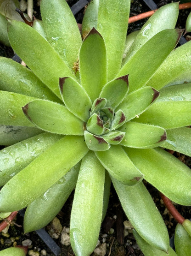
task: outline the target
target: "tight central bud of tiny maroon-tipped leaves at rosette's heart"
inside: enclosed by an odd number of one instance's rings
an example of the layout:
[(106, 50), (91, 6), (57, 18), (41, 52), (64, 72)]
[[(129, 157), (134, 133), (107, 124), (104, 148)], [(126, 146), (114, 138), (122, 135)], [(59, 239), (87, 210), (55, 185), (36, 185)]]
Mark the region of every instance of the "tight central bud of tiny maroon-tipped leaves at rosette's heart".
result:
[(94, 151), (105, 151), (110, 148), (110, 144), (119, 144), (125, 133), (116, 129), (123, 125), (125, 120), (122, 110), (119, 109), (115, 113), (112, 107), (107, 106), (107, 99), (96, 99), (84, 131), (88, 148)]

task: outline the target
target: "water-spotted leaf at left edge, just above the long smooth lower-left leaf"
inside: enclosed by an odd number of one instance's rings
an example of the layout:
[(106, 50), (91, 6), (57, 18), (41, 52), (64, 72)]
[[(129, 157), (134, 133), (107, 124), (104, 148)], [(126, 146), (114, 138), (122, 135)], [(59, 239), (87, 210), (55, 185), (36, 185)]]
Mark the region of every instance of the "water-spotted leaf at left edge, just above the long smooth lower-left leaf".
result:
[(0, 186), (27, 167), (37, 156), (51, 147), (60, 135), (42, 133), (0, 151)]

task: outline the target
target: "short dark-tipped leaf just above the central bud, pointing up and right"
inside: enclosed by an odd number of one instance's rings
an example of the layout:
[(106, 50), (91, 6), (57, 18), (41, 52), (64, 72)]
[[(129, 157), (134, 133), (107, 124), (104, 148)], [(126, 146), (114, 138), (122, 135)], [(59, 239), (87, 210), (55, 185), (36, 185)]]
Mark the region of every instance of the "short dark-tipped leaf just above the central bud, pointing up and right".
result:
[(128, 76), (118, 77), (103, 87), (100, 97), (107, 99), (107, 107), (115, 109), (123, 101), (129, 89)]

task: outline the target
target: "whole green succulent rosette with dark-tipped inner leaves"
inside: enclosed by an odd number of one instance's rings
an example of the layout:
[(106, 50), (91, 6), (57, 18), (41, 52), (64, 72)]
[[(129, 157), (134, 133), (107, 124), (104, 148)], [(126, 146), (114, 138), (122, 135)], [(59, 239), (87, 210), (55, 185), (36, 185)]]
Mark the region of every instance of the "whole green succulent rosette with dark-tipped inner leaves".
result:
[(174, 29), (172, 3), (129, 43), (129, 5), (93, 0), (82, 40), (66, 1), (42, 0), (36, 30), (8, 24), (27, 67), (0, 58), (0, 142), (8, 146), (0, 151), (0, 211), (27, 207), (30, 232), (51, 221), (75, 188), (76, 255), (96, 247), (110, 178), (136, 232), (164, 253), (169, 235), (142, 180), (191, 205), (191, 171), (163, 149), (191, 155), (184, 127), (191, 125), (191, 42), (174, 50), (182, 30)]

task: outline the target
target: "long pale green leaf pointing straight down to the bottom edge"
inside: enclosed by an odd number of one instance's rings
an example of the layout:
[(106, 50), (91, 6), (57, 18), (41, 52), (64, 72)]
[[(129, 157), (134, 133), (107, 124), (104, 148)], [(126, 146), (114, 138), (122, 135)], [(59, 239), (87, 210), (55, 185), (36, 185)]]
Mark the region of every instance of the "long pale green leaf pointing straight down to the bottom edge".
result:
[(75, 255), (89, 256), (96, 247), (103, 207), (105, 170), (93, 152), (82, 160), (70, 220)]

